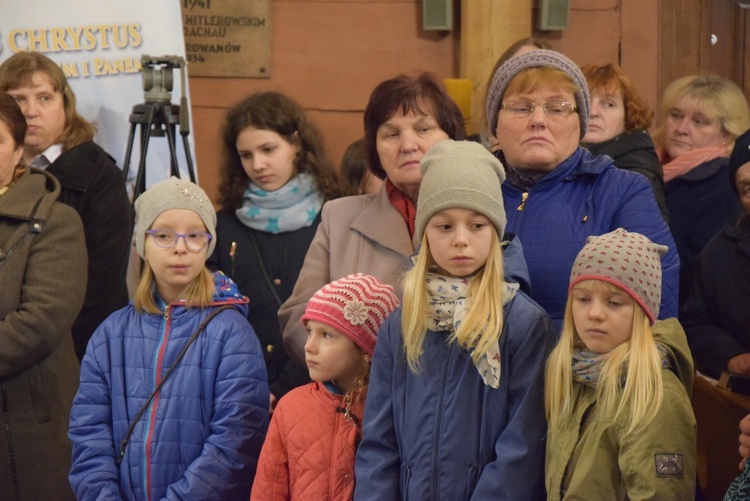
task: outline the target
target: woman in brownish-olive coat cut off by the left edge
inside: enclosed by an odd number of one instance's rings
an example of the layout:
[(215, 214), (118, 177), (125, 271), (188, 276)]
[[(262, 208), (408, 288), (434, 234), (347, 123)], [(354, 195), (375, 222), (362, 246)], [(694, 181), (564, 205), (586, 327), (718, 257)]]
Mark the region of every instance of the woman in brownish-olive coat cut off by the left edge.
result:
[(0, 93), (0, 500), (75, 499), (68, 413), (78, 385), (70, 328), (86, 247), (60, 184), (20, 162), (26, 120)]

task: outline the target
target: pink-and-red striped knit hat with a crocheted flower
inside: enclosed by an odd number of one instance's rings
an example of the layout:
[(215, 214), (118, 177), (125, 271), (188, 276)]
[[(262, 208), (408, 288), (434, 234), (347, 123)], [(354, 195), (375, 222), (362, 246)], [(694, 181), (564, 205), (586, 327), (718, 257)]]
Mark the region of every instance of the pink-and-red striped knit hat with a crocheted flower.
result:
[(315, 320), (333, 327), (372, 356), (381, 324), (399, 304), (393, 287), (356, 273), (324, 285), (313, 294), (302, 322)]

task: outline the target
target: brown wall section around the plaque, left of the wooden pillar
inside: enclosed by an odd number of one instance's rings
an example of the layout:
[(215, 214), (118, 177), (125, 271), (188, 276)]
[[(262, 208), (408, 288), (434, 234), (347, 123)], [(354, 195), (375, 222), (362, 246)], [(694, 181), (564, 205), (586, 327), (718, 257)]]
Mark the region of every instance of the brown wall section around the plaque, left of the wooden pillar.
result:
[(272, 77), (190, 78), (201, 185), (215, 200), (218, 130), (226, 109), (245, 95), (278, 90), (314, 115), (330, 156), (362, 134), (372, 89), (399, 73), (458, 74), (458, 30), (424, 32), (421, 0), (274, 0)]

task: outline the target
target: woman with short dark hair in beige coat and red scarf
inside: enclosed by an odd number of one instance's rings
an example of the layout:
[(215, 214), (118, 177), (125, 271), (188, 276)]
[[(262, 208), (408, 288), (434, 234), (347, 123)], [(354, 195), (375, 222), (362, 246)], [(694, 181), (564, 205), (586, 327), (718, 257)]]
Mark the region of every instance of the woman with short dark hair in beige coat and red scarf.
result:
[(370, 168), (386, 181), (375, 195), (323, 206), (294, 292), (279, 310), (284, 344), (300, 363), (307, 338), (300, 318), (307, 301), (325, 284), (361, 272), (393, 286), (401, 296), (401, 276), (418, 245), (419, 161), (438, 141), (466, 137), (461, 111), (427, 73), (380, 83), (370, 95), (364, 125)]

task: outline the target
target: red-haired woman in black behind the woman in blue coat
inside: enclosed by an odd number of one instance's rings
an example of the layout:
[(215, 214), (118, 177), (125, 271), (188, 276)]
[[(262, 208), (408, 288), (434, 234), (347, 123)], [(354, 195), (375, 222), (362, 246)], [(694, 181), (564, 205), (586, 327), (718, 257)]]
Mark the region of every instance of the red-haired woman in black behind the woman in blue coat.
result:
[(664, 219), (664, 174), (648, 129), (654, 112), (643, 102), (635, 84), (616, 64), (581, 68), (591, 93), (591, 117), (583, 146), (594, 155), (609, 155), (615, 167), (646, 176)]

